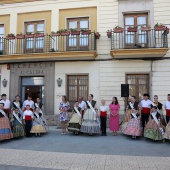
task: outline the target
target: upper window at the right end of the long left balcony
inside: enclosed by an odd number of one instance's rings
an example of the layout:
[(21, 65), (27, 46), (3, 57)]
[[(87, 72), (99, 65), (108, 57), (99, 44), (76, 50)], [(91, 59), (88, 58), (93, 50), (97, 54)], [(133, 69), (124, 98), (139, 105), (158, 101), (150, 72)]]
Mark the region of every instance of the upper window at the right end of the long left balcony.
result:
[[(67, 19), (67, 29), (89, 29), (89, 18), (72, 18)], [(67, 43), (68, 50), (88, 50), (89, 36), (88, 35), (70, 35)]]

